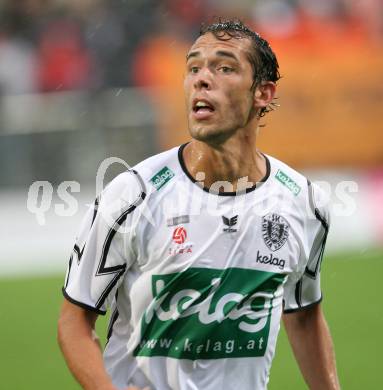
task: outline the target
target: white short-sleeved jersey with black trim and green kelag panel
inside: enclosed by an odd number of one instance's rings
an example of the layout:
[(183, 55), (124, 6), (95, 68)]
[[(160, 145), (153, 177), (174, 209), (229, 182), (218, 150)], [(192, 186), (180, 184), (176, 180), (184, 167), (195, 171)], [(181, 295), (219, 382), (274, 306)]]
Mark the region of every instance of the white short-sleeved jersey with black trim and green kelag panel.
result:
[(111, 307), (104, 360), (119, 389), (266, 389), (282, 312), (321, 300), (323, 193), (268, 156), (245, 193), (219, 193), (222, 182), (208, 192), (183, 148), (106, 187), (64, 295), (100, 314)]

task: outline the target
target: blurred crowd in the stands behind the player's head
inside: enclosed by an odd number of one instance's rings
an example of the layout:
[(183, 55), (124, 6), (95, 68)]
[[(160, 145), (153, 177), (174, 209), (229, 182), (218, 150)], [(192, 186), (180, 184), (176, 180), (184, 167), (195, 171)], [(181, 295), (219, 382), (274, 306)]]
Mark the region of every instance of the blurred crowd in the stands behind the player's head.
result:
[(169, 85), (217, 15), (280, 46), (383, 42), (381, 0), (3, 0), (0, 95)]

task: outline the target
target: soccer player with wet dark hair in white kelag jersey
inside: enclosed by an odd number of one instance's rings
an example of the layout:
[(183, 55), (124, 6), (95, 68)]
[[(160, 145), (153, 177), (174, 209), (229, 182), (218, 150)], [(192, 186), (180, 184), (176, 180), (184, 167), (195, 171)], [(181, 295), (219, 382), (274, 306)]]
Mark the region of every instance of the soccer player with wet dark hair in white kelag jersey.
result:
[(310, 389), (339, 389), (320, 305), (325, 196), (256, 147), (277, 59), (220, 20), (186, 62), (192, 140), (116, 177), (80, 229), (58, 329), (67, 364), (89, 390), (262, 390), (283, 317)]

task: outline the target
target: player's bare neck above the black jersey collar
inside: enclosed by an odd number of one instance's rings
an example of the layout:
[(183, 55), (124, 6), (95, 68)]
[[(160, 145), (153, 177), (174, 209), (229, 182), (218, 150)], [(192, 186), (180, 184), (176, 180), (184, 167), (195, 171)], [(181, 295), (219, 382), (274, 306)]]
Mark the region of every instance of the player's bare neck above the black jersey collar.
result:
[(189, 173), (198, 181), (202, 178), (207, 188), (226, 181), (233, 191), (243, 191), (261, 181), (267, 172), (265, 157), (256, 149), (255, 132), (252, 136), (238, 133), (214, 146), (193, 139), (185, 147), (183, 158)]

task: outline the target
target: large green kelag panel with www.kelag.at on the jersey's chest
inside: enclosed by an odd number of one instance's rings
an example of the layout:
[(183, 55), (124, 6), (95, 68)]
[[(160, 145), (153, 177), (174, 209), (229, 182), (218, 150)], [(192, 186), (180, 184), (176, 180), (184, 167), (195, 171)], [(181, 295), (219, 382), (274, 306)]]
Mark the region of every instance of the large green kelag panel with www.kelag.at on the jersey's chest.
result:
[(220, 359), (263, 356), (273, 301), (285, 275), (252, 269), (190, 268), (152, 276), (135, 356)]

